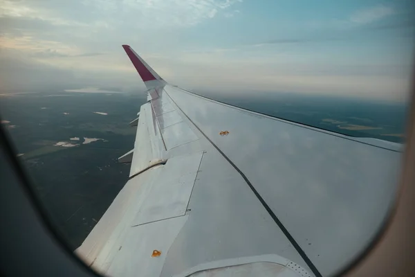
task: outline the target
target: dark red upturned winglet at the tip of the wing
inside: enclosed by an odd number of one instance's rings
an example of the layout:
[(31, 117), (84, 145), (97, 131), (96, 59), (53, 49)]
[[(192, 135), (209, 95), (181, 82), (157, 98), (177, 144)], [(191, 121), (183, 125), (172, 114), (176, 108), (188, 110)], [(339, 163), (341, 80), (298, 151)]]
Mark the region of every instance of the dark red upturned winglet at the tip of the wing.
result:
[(156, 71), (151, 69), (151, 67), (144, 61), (142, 58), (133, 51), (133, 49), (129, 45), (122, 45), (124, 48), (125, 53), (127, 53), (129, 59), (133, 63), (133, 66), (136, 68), (138, 74), (142, 81), (145, 83), (147, 89), (151, 89), (154, 87), (158, 87), (158, 85), (165, 84), (163, 78), (161, 78)]

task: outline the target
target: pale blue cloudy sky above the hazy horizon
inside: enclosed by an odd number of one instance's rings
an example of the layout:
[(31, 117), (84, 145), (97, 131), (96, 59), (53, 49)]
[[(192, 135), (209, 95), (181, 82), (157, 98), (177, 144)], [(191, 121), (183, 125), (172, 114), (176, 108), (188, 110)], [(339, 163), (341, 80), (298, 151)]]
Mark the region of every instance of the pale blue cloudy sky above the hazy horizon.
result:
[(0, 0), (0, 91), (145, 87), (407, 99), (411, 0)]

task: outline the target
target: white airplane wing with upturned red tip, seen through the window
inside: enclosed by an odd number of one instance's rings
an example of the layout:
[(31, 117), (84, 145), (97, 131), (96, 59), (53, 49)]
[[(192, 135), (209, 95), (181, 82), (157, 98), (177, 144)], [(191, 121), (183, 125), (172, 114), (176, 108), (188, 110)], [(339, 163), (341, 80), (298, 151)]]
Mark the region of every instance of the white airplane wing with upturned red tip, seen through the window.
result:
[(148, 101), (120, 157), (129, 181), (76, 250), (87, 265), (114, 277), (328, 276), (376, 238), (400, 145), (196, 95), (123, 48)]

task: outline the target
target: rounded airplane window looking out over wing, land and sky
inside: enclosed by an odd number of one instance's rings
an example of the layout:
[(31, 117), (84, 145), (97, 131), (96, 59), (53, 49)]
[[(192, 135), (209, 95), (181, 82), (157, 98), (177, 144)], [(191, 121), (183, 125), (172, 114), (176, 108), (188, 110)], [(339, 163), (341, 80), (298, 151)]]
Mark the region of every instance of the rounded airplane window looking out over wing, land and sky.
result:
[(273, 254), (332, 276), (382, 231), (411, 1), (0, 2), (1, 125), (94, 270), (129, 276), (127, 251), (147, 276), (256, 274)]

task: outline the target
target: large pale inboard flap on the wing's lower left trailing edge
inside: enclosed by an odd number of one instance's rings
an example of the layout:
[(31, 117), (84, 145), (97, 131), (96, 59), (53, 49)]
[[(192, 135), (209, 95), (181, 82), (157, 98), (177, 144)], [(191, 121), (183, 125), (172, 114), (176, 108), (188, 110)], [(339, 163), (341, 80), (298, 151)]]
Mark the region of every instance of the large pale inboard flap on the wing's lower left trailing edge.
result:
[[(123, 262), (126, 258), (146, 268), (146, 275), (160, 274), (169, 245), (187, 220), (202, 156), (196, 152), (173, 157), (130, 179), (76, 253), (101, 274), (127, 270), (122, 276), (134, 276)], [(163, 258), (151, 258), (154, 249)]]

